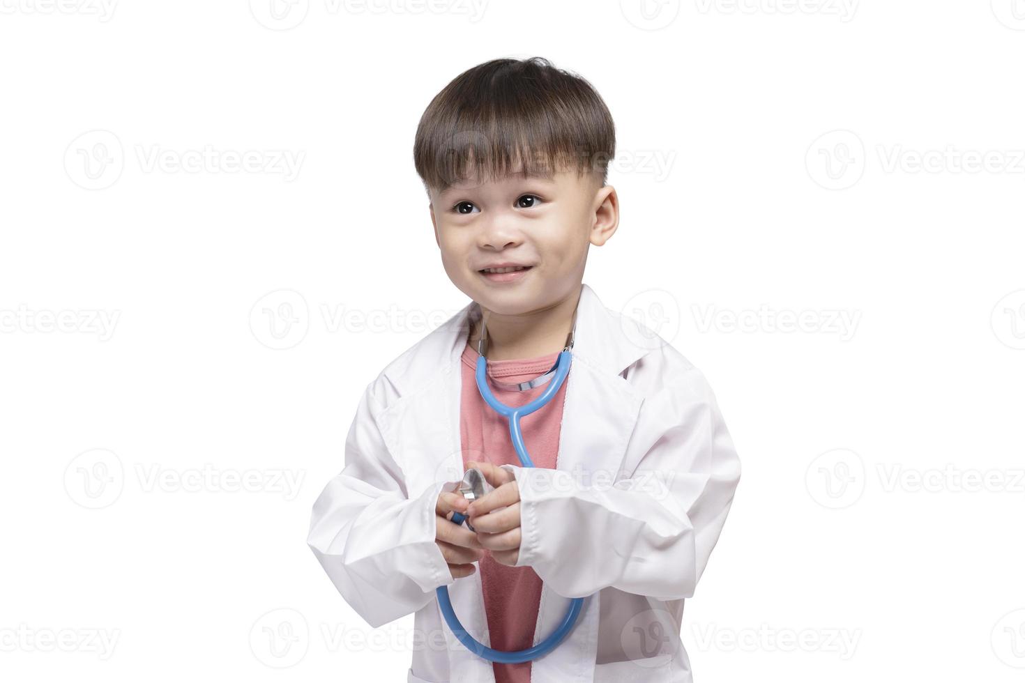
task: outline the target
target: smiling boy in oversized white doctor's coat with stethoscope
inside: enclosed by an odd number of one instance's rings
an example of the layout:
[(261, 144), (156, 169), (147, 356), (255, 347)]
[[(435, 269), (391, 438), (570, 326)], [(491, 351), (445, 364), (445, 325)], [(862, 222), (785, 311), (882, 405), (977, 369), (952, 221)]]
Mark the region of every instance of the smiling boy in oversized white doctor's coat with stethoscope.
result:
[[(309, 536), (372, 627), (415, 612), (408, 681), (692, 680), (684, 598), (740, 464), (701, 373), (582, 283), (589, 247), (619, 222), (614, 154), (598, 93), (537, 57), (466, 71), (420, 120), (414, 162), (442, 264), (471, 301), (367, 386)], [(572, 351), (558, 392), (522, 420), (533, 467), (478, 388), (482, 337), (507, 405), (536, 398)], [(495, 487), (473, 505), (453, 492), (470, 468)], [(584, 601), (558, 647), (507, 665), (456, 640), (442, 586), (466, 632), (502, 651), (545, 639)]]

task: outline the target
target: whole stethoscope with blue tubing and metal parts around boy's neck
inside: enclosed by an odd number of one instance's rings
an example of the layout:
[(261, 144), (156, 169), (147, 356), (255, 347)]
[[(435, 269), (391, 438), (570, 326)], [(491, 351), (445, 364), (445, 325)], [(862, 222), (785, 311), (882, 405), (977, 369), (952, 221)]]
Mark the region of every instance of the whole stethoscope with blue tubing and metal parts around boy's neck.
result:
[[(495, 398), (495, 395), (491, 392), (491, 387), (488, 386), (488, 360), (485, 357), (488, 336), (487, 325), (482, 316), (481, 338), (477, 341), (477, 388), (480, 390), (481, 396), (484, 398), (485, 402), (488, 403), (488, 405), (493, 408), (499, 415), (508, 419), (509, 435), (512, 438), (512, 446), (516, 449), (517, 456), (520, 458), (520, 464), (524, 467), (533, 467), (534, 463), (530, 459), (530, 455), (527, 453), (527, 446), (523, 442), (523, 433), (520, 430), (520, 419), (526, 415), (530, 415), (534, 411), (540, 410), (545, 403), (551, 400), (551, 397), (559, 391), (559, 387), (562, 386), (563, 381), (570, 372), (570, 362), (573, 359), (571, 349), (573, 348), (573, 336), (575, 332), (576, 310), (574, 309), (573, 325), (570, 329), (569, 336), (566, 338), (566, 346), (562, 351), (560, 351), (559, 358), (548, 371), (538, 375), (528, 382), (506, 383), (492, 379), (492, 382), (499, 387), (505, 389), (516, 389), (519, 391), (526, 391), (527, 389), (532, 389), (547, 383), (548, 386), (545, 387), (544, 391), (542, 391), (537, 398), (529, 403), (521, 405), (520, 408), (511, 408)], [(492, 487), (488, 483), (487, 479), (485, 479), (481, 470), (473, 468), (466, 471), (462, 481), (457, 482), (457, 488), (465, 498), (476, 500), (487, 494)], [(458, 512), (454, 512), (452, 514), (452, 521), (456, 524), (462, 524), (463, 521), (466, 521), (466, 526), (473, 530), (474, 527), (469, 525), (467, 519), (468, 517), (466, 515)], [(478, 642), (476, 638), (466, 633), (466, 630), (462, 628), (461, 624), (459, 624), (459, 618), (455, 615), (455, 610), (452, 608), (452, 600), (449, 598), (448, 586), (440, 586), (435, 592), (438, 594), (438, 605), (441, 607), (442, 614), (445, 616), (445, 622), (449, 625), (449, 629), (452, 630), (452, 633), (459, 640), (459, 642), (462, 643), (466, 649), (476, 653), (478, 656), (490, 659), (491, 661), (498, 661), (499, 664), (520, 664), (522, 661), (530, 661), (531, 659), (536, 659), (542, 654), (547, 653), (549, 650), (555, 649), (559, 643), (561, 643), (563, 639), (569, 635), (569, 632), (573, 629), (573, 625), (576, 623), (577, 616), (580, 614), (580, 609), (583, 606), (583, 598), (573, 598), (570, 601), (569, 609), (566, 611), (566, 616), (563, 617), (562, 623), (551, 633), (551, 635), (539, 642), (537, 645), (528, 647), (525, 650), (504, 652)]]

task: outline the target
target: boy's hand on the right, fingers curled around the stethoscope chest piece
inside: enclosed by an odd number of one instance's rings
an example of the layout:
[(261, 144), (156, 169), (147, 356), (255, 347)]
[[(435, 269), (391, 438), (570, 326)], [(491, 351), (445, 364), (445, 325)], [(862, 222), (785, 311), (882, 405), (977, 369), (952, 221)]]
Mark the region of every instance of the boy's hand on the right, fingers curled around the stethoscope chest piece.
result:
[[(516, 475), (491, 463), (466, 463), (466, 469), (478, 468), (494, 490), (469, 504), (469, 523), (477, 529), (481, 546), (491, 551), (499, 564), (516, 566), (520, 558), (520, 487)], [(491, 512), (504, 508), (497, 512)], [(490, 514), (489, 514), (490, 513)]]

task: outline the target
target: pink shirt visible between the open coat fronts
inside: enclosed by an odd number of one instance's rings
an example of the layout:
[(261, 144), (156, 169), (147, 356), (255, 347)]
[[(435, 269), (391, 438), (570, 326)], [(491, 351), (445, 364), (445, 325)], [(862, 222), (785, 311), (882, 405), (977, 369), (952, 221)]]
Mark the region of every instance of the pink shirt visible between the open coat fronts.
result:
[[(558, 357), (559, 351), (534, 358), (488, 360), (488, 376), (501, 382), (525, 382), (550, 369)], [(467, 343), (462, 352), (462, 397), (459, 407), (463, 466), (471, 460), (496, 466), (519, 466), (520, 457), (509, 439), (508, 421), (484, 402), (477, 388), (477, 358), (476, 346)], [(547, 404), (520, 421), (523, 440), (535, 467), (556, 469), (563, 401), (569, 381), (570, 376), (567, 375)], [(518, 391), (501, 389), (491, 383), (491, 390), (501, 402), (518, 407), (536, 398), (546, 386), (547, 383)], [(484, 588), (491, 647), (522, 650), (532, 646), (541, 601), (541, 578), (529, 566), (499, 564), (487, 551), (478, 566)], [(512, 665), (492, 663), (492, 667), (495, 683), (530, 683), (530, 661)]]

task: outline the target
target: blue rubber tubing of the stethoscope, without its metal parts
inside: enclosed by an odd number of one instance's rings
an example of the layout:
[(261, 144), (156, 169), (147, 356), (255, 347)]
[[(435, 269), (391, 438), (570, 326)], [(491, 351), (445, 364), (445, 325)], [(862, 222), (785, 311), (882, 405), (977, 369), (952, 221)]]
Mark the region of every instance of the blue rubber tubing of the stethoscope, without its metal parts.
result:
[[(517, 456), (520, 458), (520, 464), (524, 467), (533, 467), (534, 462), (530, 459), (530, 455), (527, 453), (527, 446), (523, 442), (523, 432), (520, 430), (520, 418), (530, 415), (534, 411), (541, 409), (545, 403), (551, 400), (551, 397), (556, 395), (559, 391), (559, 387), (562, 386), (563, 380), (570, 372), (570, 362), (573, 360), (573, 353), (569, 349), (564, 349), (559, 353), (559, 360), (556, 364), (556, 374), (548, 382), (548, 385), (544, 388), (537, 398), (521, 405), (520, 408), (511, 408), (502, 403), (497, 398), (495, 398), (494, 393), (491, 392), (491, 387), (488, 386), (487, 379), (487, 367), (488, 360), (483, 354), (479, 355), (477, 358), (477, 388), (481, 391), (481, 396), (484, 400), (493, 408), (499, 415), (508, 419), (509, 422), (509, 435), (512, 438), (512, 446), (516, 449)], [(466, 520), (467, 516), (460, 514), (458, 512), (453, 513), (452, 521), (456, 524), (462, 524)], [(435, 591), (438, 594), (438, 605), (441, 607), (442, 614), (445, 616), (445, 622), (449, 625), (449, 629), (459, 640), (460, 643), (465, 646), (465, 648), (478, 656), (485, 659), (490, 659), (491, 661), (498, 661), (499, 664), (520, 664), (522, 661), (530, 661), (531, 659), (536, 659), (542, 654), (547, 653), (549, 650), (555, 649), (559, 643), (563, 641), (566, 636), (569, 635), (570, 631), (573, 629), (573, 625), (576, 623), (577, 616), (580, 615), (580, 610), (583, 607), (583, 598), (573, 598), (570, 601), (569, 609), (566, 611), (566, 616), (563, 617), (562, 623), (559, 625), (551, 634), (539, 642), (533, 647), (528, 647), (525, 650), (517, 650), (514, 652), (503, 652), (502, 650), (496, 650), (487, 645), (478, 642), (476, 638), (466, 633), (466, 630), (462, 628), (459, 623), (459, 617), (455, 615), (455, 610), (452, 608), (452, 600), (449, 598), (448, 586), (440, 586)]]

